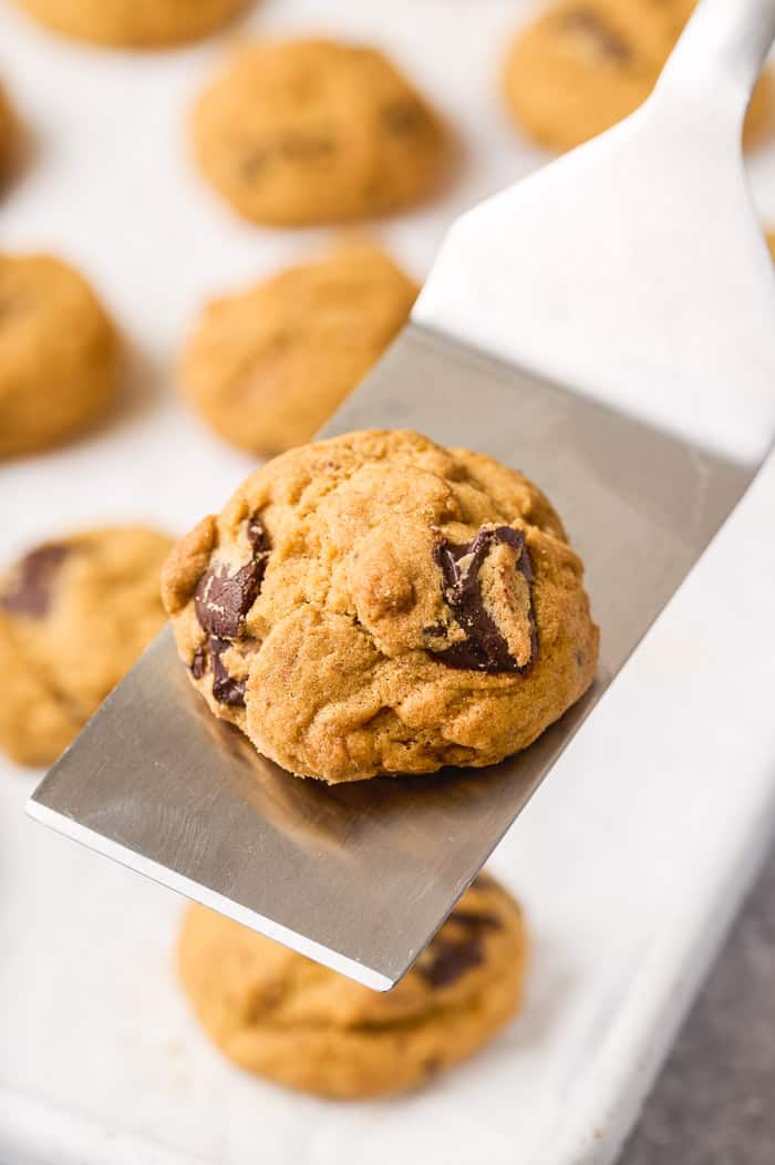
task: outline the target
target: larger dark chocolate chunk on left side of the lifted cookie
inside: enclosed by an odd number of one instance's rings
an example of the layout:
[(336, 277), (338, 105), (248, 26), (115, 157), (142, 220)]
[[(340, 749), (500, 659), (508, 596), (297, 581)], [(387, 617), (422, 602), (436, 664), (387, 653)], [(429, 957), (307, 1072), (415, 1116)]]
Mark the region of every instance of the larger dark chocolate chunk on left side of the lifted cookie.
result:
[(269, 559), (269, 539), (258, 515), (247, 523), (253, 551), (249, 563), (235, 574), (225, 564), (211, 563), (197, 582), (193, 608), (203, 630), (218, 638), (235, 638), (242, 619), (255, 602)]

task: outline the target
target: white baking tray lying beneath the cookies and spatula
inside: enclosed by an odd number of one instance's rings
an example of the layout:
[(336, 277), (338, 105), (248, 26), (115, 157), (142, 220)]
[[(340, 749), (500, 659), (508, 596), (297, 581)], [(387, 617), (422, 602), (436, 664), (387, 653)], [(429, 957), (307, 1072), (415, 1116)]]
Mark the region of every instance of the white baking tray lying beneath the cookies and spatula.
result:
[[(386, 45), (458, 125), (455, 189), (379, 232), (417, 275), (459, 210), (541, 161), (494, 84), (527, 10), (266, 0), (252, 17)], [(83, 266), (138, 352), (132, 401), (107, 431), (0, 469), (2, 557), (92, 522), (181, 532), (251, 465), (177, 404), (171, 361), (204, 298), (326, 236), (244, 226), (198, 182), (185, 111), (221, 52), (79, 50), (0, 9), (0, 75), (36, 135), (0, 246)], [(752, 178), (775, 221), (775, 153)], [(534, 934), (523, 1016), (411, 1096), (323, 1103), (223, 1061), (175, 986), (179, 899), (26, 820), (36, 776), (2, 764), (3, 1165), (611, 1162), (769, 835), (774, 529), (775, 461), (496, 853)]]

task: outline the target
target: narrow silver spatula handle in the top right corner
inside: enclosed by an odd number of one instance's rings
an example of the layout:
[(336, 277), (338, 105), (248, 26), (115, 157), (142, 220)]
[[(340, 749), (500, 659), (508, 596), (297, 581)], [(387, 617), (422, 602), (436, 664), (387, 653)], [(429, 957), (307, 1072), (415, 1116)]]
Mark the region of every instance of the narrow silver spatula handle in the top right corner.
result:
[(773, 41), (775, 0), (700, 0), (660, 90), (691, 85), (721, 91), (742, 119)]

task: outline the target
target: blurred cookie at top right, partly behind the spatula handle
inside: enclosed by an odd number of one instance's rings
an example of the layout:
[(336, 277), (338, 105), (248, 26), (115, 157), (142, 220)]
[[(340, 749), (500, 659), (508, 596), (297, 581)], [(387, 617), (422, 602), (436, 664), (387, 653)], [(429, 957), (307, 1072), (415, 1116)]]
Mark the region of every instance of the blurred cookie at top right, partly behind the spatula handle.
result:
[[(647, 99), (695, 0), (561, 0), (513, 42), (503, 72), (508, 110), (538, 146), (568, 150)], [(768, 128), (772, 77), (754, 96), (747, 144)]]

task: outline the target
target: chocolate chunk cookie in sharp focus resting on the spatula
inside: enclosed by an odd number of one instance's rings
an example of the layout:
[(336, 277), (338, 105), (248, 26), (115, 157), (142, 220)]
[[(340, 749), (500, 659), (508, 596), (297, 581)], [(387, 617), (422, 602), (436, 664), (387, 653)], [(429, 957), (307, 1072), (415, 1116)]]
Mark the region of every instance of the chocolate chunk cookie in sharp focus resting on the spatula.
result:
[(330, 783), (494, 764), (596, 671), (583, 566), (547, 499), (410, 431), (269, 461), (178, 544), (162, 593), (211, 711)]

